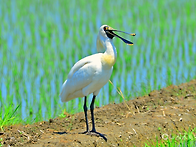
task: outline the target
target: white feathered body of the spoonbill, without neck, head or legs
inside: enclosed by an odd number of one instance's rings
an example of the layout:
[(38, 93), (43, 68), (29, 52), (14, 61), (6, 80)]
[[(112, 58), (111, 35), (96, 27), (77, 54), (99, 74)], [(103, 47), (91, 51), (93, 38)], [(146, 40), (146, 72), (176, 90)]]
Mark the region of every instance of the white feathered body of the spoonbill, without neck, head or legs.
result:
[(60, 94), (62, 102), (99, 93), (112, 74), (112, 66), (105, 66), (101, 57), (102, 53), (85, 57), (72, 67), (63, 83)]

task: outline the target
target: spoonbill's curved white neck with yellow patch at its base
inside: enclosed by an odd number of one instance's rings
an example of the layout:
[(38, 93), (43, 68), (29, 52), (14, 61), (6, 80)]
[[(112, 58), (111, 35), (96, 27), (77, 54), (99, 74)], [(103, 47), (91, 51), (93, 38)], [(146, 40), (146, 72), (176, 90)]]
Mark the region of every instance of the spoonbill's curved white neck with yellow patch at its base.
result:
[(112, 67), (116, 62), (117, 52), (111, 39), (104, 42), (105, 52), (102, 55), (102, 63), (108, 67)]

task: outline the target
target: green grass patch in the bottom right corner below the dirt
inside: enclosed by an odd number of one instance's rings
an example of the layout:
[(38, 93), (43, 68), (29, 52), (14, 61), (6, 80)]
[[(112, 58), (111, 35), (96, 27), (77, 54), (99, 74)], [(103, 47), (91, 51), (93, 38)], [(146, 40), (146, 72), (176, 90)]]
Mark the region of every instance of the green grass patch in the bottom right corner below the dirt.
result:
[(145, 143), (145, 147), (194, 147), (196, 145), (196, 128), (184, 131), (183, 133), (162, 134), (162, 140), (152, 141), (153, 143)]

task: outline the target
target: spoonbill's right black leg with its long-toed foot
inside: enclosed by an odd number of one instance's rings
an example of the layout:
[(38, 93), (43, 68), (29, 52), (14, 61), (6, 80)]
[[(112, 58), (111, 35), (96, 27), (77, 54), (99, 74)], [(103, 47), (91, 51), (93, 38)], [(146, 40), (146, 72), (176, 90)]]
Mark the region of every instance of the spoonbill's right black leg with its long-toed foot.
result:
[(92, 120), (92, 130), (90, 132), (91, 132), (92, 135), (95, 134), (97, 136), (101, 136), (105, 141), (107, 141), (107, 138), (103, 134), (97, 132), (96, 129), (95, 129), (95, 121), (94, 121), (94, 103), (95, 103), (95, 98), (96, 98), (96, 96), (94, 95), (93, 99), (92, 99), (92, 102), (91, 102), (91, 105), (90, 105), (91, 120)]

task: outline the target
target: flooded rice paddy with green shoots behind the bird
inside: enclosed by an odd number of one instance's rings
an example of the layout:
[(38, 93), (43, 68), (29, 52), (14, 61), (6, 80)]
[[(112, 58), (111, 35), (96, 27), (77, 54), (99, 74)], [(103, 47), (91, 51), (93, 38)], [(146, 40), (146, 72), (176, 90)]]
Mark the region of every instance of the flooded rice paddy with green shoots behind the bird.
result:
[[(114, 44), (118, 58), (96, 105), (120, 103), (196, 78), (195, 0), (0, 0), (0, 119), (33, 123), (82, 111), (62, 103), (61, 85), (79, 59), (96, 53), (99, 27), (136, 33)], [(89, 102), (92, 95), (89, 96)]]

